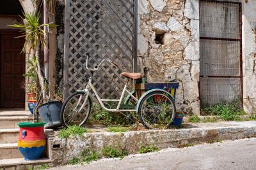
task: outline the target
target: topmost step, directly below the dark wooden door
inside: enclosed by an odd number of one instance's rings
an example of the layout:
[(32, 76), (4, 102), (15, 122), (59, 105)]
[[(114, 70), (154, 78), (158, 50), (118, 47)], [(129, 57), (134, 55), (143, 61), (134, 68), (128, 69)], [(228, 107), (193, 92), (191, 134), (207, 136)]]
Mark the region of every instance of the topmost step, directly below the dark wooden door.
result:
[(0, 129), (13, 129), (19, 128), (19, 122), (32, 122), (33, 117), (31, 115), (26, 116), (0, 116)]

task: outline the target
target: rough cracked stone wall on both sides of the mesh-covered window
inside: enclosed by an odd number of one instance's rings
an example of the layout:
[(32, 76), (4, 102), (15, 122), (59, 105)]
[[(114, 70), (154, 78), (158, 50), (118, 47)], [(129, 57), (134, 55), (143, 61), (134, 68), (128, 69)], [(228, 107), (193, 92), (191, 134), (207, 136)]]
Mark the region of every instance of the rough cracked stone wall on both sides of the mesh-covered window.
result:
[[(255, 113), (256, 1), (242, 6), (243, 106)], [(177, 111), (200, 113), (199, 0), (139, 0), (138, 56), (148, 81), (176, 78)]]

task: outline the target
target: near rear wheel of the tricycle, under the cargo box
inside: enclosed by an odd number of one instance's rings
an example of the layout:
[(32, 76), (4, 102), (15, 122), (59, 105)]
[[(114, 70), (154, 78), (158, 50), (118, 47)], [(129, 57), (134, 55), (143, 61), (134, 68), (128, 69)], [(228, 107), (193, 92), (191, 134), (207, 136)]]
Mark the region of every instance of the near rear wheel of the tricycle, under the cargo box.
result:
[(148, 129), (168, 128), (176, 115), (173, 97), (168, 92), (150, 92), (141, 99), (138, 114)]

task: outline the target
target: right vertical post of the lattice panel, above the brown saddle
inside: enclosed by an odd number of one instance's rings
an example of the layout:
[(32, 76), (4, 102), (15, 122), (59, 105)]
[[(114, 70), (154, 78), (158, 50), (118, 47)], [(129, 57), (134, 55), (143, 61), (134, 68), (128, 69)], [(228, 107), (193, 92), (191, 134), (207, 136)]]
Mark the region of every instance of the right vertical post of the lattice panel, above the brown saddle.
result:
[(138, 71), (138, 60), (137, 60), (137, 50), (138, 50), (138, 0), (134, 0), (134, 25), (133, 25), (133, 72)]

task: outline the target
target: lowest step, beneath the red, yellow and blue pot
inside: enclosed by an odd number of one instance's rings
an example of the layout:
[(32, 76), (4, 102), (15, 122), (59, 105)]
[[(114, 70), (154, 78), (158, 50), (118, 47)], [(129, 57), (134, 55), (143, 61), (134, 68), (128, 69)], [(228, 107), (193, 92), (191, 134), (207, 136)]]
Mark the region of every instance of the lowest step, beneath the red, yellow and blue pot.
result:
[(49, 163), (51, 163), (51, 160), (48, 158), (38, 160), (24, 160), (24, 158), (2, 159), (0, 160), (0, 169), (33, 169), (33, 166)]

